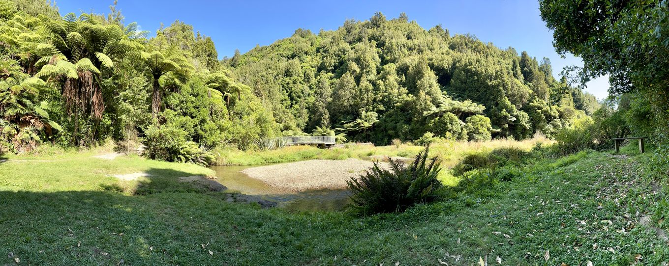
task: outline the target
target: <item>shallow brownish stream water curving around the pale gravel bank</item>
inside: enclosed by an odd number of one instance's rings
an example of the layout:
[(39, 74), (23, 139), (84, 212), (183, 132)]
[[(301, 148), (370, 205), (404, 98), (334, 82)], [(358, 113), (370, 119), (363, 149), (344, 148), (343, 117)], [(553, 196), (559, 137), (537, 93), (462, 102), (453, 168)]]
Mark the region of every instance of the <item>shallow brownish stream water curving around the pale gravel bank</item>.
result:
[(282, 191), (264, 182), (248, 177), (241, 171), (250, 166), (213, 166), (217, 181), (229, 192), (258, 195), (263, 199), (278, 202), (278, 206), (294, 210), (341, 210), (350, 202), (345, 189), (322, 189), (314, 191)]

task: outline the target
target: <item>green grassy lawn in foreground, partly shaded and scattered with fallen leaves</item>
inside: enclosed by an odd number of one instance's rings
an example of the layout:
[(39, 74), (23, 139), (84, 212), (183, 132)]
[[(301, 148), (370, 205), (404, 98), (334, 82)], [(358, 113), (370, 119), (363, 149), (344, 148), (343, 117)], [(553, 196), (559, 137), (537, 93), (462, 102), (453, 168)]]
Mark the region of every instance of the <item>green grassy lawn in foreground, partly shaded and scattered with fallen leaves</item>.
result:
[[(355, 217), (227, 203), (176, 181), (211, 174), (195, 165), (15, 157), (0, 163), (0, 253), (22, 265), (661, 265), (666, 225), (640, 221), (666, 191), (646, 159), (579, 153), (454, 201)], [(155, 177), (106, 176), (138, 171)]]

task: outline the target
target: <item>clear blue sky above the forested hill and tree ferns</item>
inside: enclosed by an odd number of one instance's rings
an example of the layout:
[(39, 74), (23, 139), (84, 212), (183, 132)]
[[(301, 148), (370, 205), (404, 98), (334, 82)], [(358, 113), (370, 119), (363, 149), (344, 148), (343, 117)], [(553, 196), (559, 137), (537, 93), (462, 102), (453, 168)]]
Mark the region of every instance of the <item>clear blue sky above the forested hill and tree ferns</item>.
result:
[[(107, 13), (113, 0), (60, 0), (62, 15), (81, 11)], [(562, 59), (553, 48), (553, 35), (541, 21), (539, 3), (533, 0), (464, 1), (171, 1), (118, 0), (126, 23), (136, 21), (142, 30), (154, 33), (161, 25), (179, 19), (193, 25), (195, 31), (211, 37), (219, 58), (242, 53), (256, 45), (270, 45), (290, 37), (295, 29), (337, 29), (345, 19), (367, 20), (381, 11), (387, 18), (405, 12), (425, 29), (441, 24), (454, 33), (472, 33), (481, 41), (541, 59), (548, 57), (553, 75), (567, 65), (582, 65), (581, 60)], [(585, 91), (597, 99), (607, 96), (608, 79), (600, 77), (587, 84)]]

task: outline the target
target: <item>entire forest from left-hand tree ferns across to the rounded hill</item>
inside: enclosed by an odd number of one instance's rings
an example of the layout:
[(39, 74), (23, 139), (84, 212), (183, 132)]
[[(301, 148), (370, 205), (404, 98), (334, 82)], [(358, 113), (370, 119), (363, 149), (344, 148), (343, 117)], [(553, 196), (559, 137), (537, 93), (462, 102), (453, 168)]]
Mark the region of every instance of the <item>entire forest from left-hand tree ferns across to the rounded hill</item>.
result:
[(551, 137), (598, 105), (556, 80), (549, 59), (428, 31), (403, 13), (298, 29), (219, 61), (211, 38), (183, 21), (149, 33), (116, 5), (61, 17), (41, 0), (0, 0), (0, 41), (0, 139), (14, 153), (112, 139), (190, 161), (278, 135)]

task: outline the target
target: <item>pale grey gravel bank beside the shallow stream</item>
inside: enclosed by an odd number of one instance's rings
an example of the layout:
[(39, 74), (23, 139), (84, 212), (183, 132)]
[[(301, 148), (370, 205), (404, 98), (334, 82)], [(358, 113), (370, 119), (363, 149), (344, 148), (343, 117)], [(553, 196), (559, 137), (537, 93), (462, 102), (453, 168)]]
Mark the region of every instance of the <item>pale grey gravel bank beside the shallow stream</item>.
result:
[[(387, 163), (379, 163), (387, 167)], [(260, 179), (270, 187), (286, 191), (317, 189), (345, 189), (346, 181), (359, 177), (373, 166), (371, 161), (360, 159), (308, 160), (248, 168), (242, 171), (249, 177)]]

